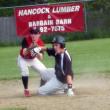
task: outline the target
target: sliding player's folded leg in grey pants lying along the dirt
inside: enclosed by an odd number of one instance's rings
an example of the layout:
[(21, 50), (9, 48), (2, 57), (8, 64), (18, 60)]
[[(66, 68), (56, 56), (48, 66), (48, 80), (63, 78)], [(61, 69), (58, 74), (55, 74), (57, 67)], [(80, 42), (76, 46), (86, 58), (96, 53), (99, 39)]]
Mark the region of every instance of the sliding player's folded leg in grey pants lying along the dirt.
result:
[(48, 95), (53, 94), (56, 91), (63, 89), (64, 84), (57, 80), (56, 77), (51, 78), (44, 86), (38, 89), (38, 94)]

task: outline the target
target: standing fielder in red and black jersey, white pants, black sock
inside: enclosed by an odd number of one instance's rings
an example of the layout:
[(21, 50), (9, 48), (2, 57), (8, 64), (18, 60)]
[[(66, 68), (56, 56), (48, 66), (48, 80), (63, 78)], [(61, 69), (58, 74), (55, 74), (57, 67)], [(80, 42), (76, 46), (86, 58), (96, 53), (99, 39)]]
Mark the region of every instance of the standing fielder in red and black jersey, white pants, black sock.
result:
[(18, 56), (18, 66), (21, 70), (24, 95), (27, 97), (30, 96), (28, 90), (28, 67), (32, 67), (41, 74), (43, 74), (46, 69), (44, 64), (40, 61), (43, 59), (43, 53), (40, 47), (44, 46), (44, 42), (40, 38), (41, 33), (37, 28), (31, 28), (29, 32), (30, 35), (22, 40), (20, 55)]

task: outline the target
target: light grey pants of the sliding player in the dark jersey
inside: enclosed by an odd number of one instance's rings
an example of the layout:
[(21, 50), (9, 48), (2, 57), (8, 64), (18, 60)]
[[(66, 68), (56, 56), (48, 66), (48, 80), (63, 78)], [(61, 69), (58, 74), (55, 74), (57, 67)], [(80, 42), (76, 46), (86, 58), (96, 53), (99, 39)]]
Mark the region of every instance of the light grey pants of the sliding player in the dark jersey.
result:
[(43, 77), (43, 78), (44, 78), (44, 81), (46, 81), (46, 83), (37, 90), (37, 93), (39, 95), (54, 94), (57, 91), (60, 91), (60, 90), (64, 91), (64, 89), (66, 89), (67, 84), (60, 82), (56, 78), (54, 68), (46, 69), (44, 72), (44, 76), (45, 77)]

